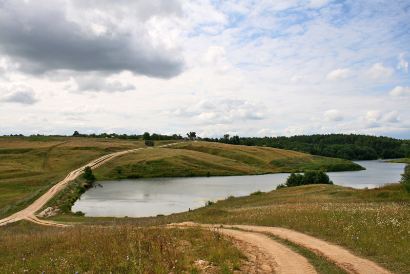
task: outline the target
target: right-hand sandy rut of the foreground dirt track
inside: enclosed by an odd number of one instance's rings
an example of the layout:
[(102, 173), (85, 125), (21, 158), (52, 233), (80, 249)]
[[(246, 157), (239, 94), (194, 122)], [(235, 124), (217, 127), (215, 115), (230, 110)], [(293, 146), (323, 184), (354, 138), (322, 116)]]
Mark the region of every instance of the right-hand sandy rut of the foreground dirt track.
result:
[[(268, 226), (253, 226), (253, 225), (206, 225), (193, 222), (176, 223), (172, 226), (201, 226), (206, 228), (239, 228), (242, 230), (269, 233), (281, 239), (289, 240), (297, 245), (312, 250), (317, 255), (331, 261), (344, 271), (352, 274), (393, 274), (393, 272), (387, 271), (375, 262), (357, 257), (350, 251), (327, 243), (323, 240), (308, 236), (306, 234), (296, 232), (290, 229), (282, 227), (268, 227)], [(226, 229), (224, 229), (226, 230)], [(229, 233), (234, 235), (236, 230), (230, 230)], [(273, 240), (271, 240), (273, 241)], [(256, 244), (255, 242), (253, 242)], [(262, 245), (266, 245), (266, 242), (262, 242)], [(292, 259), (293, 260), (293, 259)], [(296, 261), (295, 261), (296, 262)], [(281, 273), (281, 272), (280, 272)], [(296, 273), (296, 272), (295, 272)]]

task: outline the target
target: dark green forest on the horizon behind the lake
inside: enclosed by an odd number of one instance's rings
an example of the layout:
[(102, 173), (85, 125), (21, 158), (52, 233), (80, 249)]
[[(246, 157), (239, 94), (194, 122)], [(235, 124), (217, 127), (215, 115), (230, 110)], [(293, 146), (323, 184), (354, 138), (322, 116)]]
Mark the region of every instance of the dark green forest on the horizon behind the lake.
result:
[(203, 138), (204, 141), (233, 145), (267, 146), (346, 160), (410, 158), (410, 140), (357, 134), (315, 134), (292, 137)]

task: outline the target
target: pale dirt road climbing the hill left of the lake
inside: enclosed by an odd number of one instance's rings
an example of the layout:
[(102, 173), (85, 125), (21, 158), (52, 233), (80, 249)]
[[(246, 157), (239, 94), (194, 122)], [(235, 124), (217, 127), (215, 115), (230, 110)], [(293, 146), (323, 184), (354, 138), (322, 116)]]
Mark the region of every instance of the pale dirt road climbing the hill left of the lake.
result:
[(84, 173), (84, 168), (86, 166), (89, 166), (91, 169), (94, 169), (94, 168), (99, 167), (100, 165), (103, 165), (107, 161), (110, 161), (111, 159), (113, 159), (117, 156), (126, 154), (126, 153), (130, 153), (130, 152), (134, 152), (134, 151), (138, 151), (138, 150), (144, 150), (144, 149), (154, 149), (154, 148), (167, 147), (167, 146), (172, 146), (172, 145), (181, 144), (181, 143), (182, 142), (172, 143), (172, 144), (167, 144), (167, 145), (162, 145), (162, 146), (143, 147), (143, 148), (130, 149), (130, 150), (126, 150), (126, 151), (119, 151), (119, 152), (114, 152), (114, 153), (111, 153), (111, 154), (104, 155), (104, 156), (102, 156), (102, 157), (100, 157), (96, 160), (93, 160), (90, 163), (88, 163), (87, 165), (84, 165), (80, 168), (77, 168), (77, 169), (71, 171), (63, 181), (55, 184), (46, 193), (44, 193), (40, 198), (35, 200), (31, 205), (29, 205), (25, 209), (22, 209), (22, 210), (20, 210), (16, 213), (12, 214), (11, 216), (5, 218), (5, 219), (0, 220), (0, 226), (6, 225), (6, 224), (9, 224), (9, 223), (13, 223), (13, 222), (17, 222), (19, 220), (27, 220), (27, 221), (34, 222), (34, 223), (37, 223), (37, 224), (42, 224), (42, 225), (67, 226), (65, 224), (50, 222), (50, 221), (46, 221), (46, 220), (40, 220), (35, 216), (35, 212), (42, 209), (44, 207), (44, 205), (50, 199), (52, 199), (59, 191), (63, 190), (67, 186), (68, 182), (70, 182), (70, 181), (74, 180), (75, 178), (77, 178), (77, 176), (80, 175), (81, 173)]

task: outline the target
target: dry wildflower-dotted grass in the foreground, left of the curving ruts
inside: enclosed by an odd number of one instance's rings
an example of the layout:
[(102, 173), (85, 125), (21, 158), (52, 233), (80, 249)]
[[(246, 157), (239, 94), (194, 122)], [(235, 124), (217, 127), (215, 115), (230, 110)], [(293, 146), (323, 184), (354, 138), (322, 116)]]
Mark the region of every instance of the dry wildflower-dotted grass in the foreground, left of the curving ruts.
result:
[(244, 259), (217, 230), (198, 228), (20, 222), (0, 227), (0, 235), (0, 273), (200, 273), (208, 265), (211, 273), (234, 273)]

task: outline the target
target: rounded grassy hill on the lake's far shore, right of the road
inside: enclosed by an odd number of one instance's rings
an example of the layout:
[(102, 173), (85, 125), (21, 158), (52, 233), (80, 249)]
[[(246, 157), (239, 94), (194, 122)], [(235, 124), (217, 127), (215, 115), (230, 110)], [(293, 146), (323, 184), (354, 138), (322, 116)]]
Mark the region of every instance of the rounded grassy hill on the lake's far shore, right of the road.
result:
[(98, 180), (360, 170), (350, 161), (269, 147), (186, 142), (122, 155), (94, 170)]

